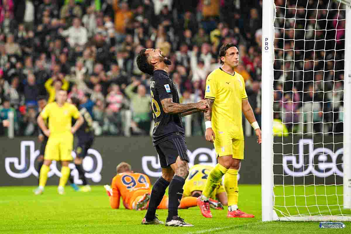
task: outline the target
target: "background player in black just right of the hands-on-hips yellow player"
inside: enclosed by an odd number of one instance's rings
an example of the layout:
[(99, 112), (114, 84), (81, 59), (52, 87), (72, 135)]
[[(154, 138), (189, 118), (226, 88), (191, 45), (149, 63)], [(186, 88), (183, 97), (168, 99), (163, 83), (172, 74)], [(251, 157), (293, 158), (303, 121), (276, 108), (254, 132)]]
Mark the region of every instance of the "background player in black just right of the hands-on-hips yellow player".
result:
[[(84, 118), (84, 123), (78, 128), (77, 132), (75, 132), (75, 135), (78, 138), (78, 145), (75, 149), (77, 156), (74, 159), (74, 165), (79, 173), (79, 179), (81, 179), (83, 182), (83, 187), (81, 187), (80, 190), (82, 192), (90, 192), (91, 187), (88, 185), (85, 178), (82, 162), (85, 156), (88, 154), (88, 149), (90, 149), (94, 142), (94, 131), (92, 128), (93, 120), (87, 109), (79, 107), (80, 100), (78, 98), (71, 98), (71, 103), (79, 109), (81, 116)], [(71, 183), (73, 183), (72, 178), (69, 178), (69, 180)]]

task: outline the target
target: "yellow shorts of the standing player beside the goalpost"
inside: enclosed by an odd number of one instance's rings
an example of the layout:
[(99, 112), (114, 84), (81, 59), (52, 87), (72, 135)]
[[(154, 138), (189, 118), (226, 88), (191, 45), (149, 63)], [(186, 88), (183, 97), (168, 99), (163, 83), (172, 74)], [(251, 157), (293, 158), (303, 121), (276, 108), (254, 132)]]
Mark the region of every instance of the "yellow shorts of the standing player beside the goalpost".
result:
[(213, 145), (217, 157), (232, 155), (233, 159), (244, 159), (244, 140), (233, 139), (226, 134), (216, 134)]

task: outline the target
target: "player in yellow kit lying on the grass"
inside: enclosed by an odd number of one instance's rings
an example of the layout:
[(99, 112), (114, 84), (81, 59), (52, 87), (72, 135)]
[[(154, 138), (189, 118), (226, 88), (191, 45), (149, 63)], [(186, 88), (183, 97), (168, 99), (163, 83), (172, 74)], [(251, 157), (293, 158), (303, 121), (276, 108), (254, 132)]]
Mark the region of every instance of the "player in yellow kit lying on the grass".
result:
[[(183, 186), (183, 198), (189, 196), (198, 198), (201, 196), (205, 187), (207, 176), (212, 169), (212, 166), (203, 164), (196, 164), (192, 166), (189, 169), (188, 178), (186, 178)], [(227, 194), (222, 182), (219, 182), (216, 188), (213, 190), (209, 202), (210, 207), (214, 209), (223, 209), (223, 205), (228, 205)]]

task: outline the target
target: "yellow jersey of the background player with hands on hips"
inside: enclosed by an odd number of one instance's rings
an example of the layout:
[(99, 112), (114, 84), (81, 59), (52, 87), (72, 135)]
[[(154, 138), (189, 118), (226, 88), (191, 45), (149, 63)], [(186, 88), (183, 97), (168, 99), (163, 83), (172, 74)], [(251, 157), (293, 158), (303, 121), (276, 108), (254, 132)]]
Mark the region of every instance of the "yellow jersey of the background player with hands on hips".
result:
[(40, 113), (41, 117), (49, 121), (50, 136), (71, 133), (72, 117), (78, 119), (80, 113), (74, 105), (66, 102), (59, 107), (56, 102), (49, 103)]

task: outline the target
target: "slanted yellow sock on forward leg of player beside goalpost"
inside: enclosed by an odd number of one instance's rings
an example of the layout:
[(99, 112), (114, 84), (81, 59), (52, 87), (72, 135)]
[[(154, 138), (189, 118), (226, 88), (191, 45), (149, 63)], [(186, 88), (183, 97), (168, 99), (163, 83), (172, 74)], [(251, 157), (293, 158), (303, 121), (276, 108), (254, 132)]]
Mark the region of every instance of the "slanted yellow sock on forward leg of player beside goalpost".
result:
[(221, 181), (222, 176), (228, 171), (227, 168), (217, 163), (216, 167), (212, 169), (210, 174), (208, 174), (208, 178), (206, 180), (206, 184), (204, 190), (202, 191), (201, 200), (208, 200), (216, 188), (218, 183)]

